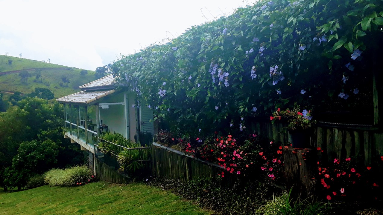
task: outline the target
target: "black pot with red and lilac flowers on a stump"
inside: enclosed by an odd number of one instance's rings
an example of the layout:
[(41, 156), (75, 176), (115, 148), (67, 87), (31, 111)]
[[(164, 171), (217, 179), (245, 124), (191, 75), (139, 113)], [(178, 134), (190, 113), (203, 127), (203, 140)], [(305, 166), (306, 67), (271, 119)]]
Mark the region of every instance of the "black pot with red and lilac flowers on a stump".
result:
[(316, 123), (312, 118), (310, 110), (304, 109), (301, 111), (300, 106), (296, 103), (294, 103), (292, 110), (286, 109), (281, 111), (278, 108), (270, 116), (272, 123), (277, 120), (287, 123), (287, 129), (291, 135), (291, 143), (295, 148), (306, 148), (309, 145), (312, 133), (311, 126)]

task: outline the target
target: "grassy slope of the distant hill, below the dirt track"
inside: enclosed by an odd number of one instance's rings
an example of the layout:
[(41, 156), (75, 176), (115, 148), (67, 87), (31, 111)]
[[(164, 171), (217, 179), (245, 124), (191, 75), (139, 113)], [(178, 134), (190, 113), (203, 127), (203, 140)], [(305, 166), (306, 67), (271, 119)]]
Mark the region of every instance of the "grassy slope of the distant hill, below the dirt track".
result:
[[(79, 92), (79, 86), (96, 80), (94, 71), (89, 71), (87, 75), (80, 75), (81, 69), (77, 68), (60, 68), (52, 70), (41, 70), (41, 80), (36, 80), (34, 71), (29, 72), (32, 76), (28, 78), (27, 83), (20, 81), (19, 73), (11, 73), (0, 76), (0, 91), (20, 91), (28, 94), (34, 91), (35, 88), (48, 88), (52, 91), (55, 98), (60, 98), (72, 93)], [(68, 86), (60, 86), (62, 77), (69, 79)], [(36, 81), (35, 81), (36, 80)]]

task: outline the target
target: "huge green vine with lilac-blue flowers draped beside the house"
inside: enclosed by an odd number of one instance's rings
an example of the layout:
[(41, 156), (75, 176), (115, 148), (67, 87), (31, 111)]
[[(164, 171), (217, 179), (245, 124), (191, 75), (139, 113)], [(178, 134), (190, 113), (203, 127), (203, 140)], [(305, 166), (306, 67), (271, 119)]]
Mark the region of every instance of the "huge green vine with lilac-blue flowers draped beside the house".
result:
[(182, 134), (234, 134), (295, 101), (318, 112), (371, 103), (381, 11), (378, 0), (263, 0), (122, 56), (113, 74)]

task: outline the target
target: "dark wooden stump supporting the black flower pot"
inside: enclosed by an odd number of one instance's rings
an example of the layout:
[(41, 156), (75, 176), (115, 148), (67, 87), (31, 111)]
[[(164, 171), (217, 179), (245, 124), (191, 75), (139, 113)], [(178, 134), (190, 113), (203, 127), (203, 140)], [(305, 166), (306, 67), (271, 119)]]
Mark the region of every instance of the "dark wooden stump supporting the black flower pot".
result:
[(283, 149), (287, 189), (291, 197), (305, 199), (314, 195), (315, 176), (318, 174), (318, 153), (311, 148)]

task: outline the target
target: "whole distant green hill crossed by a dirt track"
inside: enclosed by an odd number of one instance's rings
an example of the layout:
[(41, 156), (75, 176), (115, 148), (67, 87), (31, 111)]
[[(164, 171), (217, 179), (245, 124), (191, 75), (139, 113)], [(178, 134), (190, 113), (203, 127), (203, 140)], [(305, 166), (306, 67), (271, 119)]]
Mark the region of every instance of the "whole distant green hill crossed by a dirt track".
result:
[(48, 88), (55, 98), (80, 91), (79, 86), (96, 80), (95, 72), (37, 60), (0, 55), (0, 92), (28, 94)]

